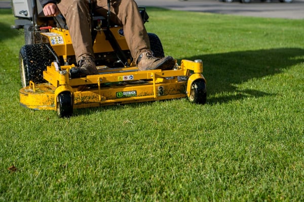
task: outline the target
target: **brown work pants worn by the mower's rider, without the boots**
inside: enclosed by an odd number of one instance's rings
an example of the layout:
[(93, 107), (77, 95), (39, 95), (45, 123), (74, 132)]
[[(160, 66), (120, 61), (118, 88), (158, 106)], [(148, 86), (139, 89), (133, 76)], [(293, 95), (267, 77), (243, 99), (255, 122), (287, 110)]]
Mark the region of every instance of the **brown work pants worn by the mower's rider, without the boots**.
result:
[[(107, 16), (107, 0), (92, 0), (95, 16)], [(83, 55), (94, 56), (90, 32), (90, 13), (87, 0), (61, 0), (57, 5), (66, 19), (77, 61)], [(132, 57), (150, 49), (149, 38), (137, 4), (133, 0), (111, 0), (111, 21), (122, 25)]]

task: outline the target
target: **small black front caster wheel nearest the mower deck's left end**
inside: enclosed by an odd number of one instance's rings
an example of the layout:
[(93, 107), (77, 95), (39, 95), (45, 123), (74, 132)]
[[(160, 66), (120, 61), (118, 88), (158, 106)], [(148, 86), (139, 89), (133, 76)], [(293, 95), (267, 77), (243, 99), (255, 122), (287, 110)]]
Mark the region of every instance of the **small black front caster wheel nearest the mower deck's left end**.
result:
[(57, 115), (59, 118), (68, 118), (73, 114), (73, 99), (68, 91), (64, 91), (57, 96)]

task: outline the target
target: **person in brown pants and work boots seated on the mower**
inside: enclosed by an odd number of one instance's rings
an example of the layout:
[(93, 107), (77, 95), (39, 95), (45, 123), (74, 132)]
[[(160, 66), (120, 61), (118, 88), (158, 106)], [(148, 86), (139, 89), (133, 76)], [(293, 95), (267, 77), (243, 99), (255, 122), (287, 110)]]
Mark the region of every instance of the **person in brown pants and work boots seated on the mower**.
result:
[[(60, 12), (69, 27), (78, 67), (72, 68), (72, 78), (97, 74), (90, 32), (90, 11), (93, 16), (109, 16), (111, 22), (124, 28), (124, 36), (132, 57), (137, 61), (139, 70), (172, 69), (174, 59), (158, 59), (150, 50), (147, 32), (143, 25), (138, 6), (133, 0), (40, 0), (45, 16), (56, 16)], [(57, 4), (55, 4), (57, 3)], [(107, 8), (108, 7), (108, 8)], [(108, 12), (108, 13), (107, 13)], [(137, 60), (136, 60), (137, 59)]]

